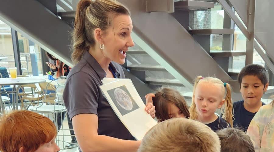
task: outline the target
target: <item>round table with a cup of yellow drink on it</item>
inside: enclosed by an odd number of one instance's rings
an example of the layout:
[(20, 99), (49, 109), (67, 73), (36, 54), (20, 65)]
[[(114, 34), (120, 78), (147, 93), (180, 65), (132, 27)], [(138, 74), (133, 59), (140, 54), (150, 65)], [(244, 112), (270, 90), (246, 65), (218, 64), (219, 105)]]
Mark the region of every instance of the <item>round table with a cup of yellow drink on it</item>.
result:
[[(0, 91), (0, 97), (1, 97), (1, 93), (7, 93), (7, 94), (15, 94), (15, 97), (12, 101), (12, 105), (13, 105), (13, 109), (17, 109), (18, 110), (18, 93), (19, 90), (21, 88), (21, 85), (29, 85), (29, 84), (35, 84), (35, 83), (43, 83), (46, 80), (44, 79), (28, 79), (28, 78), (0, 78), (0, 88), (3, 85), (13, 85), (13, 89), (12, 91)], [(16, 87), (17, 85), (17, 87)], [(22, 102), (22, 101), (21, 101)], [(2, 102), (2, 98), (0, 98), (0, 113), (4, 113), (5, 109), (3, 106), (3, 102)]]

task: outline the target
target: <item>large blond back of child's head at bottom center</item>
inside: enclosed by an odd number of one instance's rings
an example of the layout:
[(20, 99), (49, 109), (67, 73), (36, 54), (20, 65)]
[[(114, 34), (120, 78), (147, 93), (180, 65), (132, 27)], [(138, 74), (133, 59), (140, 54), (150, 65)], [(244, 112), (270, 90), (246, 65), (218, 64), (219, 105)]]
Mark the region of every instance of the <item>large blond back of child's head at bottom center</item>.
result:
[(220, 140), (208, 126), (191, 119), (158, 123), (142, 139), (138, 152), (220, 152)]

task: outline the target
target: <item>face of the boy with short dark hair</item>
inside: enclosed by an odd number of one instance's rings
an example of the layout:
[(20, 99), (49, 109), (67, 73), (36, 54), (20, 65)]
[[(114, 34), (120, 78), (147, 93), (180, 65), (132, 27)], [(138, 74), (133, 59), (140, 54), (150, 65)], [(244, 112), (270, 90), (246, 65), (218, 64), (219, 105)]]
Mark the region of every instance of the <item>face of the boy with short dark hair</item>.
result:
[(262, 81), (254, 75), (246, 75), (242, 79), (240, 92), (245, 102), (256, 104), (261, 101), (264, 92), (267, 91), (268, 83), (262, 84)]

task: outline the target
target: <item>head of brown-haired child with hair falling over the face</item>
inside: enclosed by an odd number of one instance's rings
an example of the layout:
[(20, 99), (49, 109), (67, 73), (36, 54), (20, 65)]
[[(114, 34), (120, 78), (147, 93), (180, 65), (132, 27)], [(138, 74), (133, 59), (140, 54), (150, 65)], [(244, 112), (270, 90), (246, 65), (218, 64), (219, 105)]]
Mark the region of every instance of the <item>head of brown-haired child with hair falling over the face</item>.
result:
[(190, 117), (184, 97), (172, 88), (159, 88), (152, 100), (159, 122), (176, 117)]

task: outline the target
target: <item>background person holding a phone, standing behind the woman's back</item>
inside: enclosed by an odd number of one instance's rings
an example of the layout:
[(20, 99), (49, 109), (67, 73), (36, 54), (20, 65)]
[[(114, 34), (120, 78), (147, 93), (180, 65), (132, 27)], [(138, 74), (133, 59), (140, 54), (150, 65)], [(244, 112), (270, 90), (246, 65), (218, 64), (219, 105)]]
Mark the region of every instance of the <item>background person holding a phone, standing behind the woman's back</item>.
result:
[[(53, 55), (49, 54), (48, 52), (46, 52), (46, 56), (54, 61), (54, 64), (50, 63), (50, 62), (46, 62), (47, 66), (51, 68), (52, 73), (56, 72), (56, 78), (58, 77), (62, 77), (62, 76), (68, 76), (69, 71), (71, 70), (71, 67), (69, 67), (68, 65), (66, 65), (65, 63), (63, 63), (62, 61), (58, 60), (56, 57), (54, 57)], [(61, 112), (58, 112), (57, 114), (57, 125), (58, 125), (58, 130), (61, 128), (62, 125), (62, 121), (64, 120), (65, 117), (65, 112), (62, 113), (62, 119), (61, 119)], [(68, 128), (70, 129), (70, 134), (74, 135), (74, 131), (73, 131), (73, 127), (72, 127), (72, 121), (69, 118), (69, 116), (67, 115), (68, 118)], [(77, 143), (76, 137), (75, 136), (71, 136), (72, 140), (71, 143)], [(65, 145), (65, 147), (71, 147), (73, 146), (73, 144), (68, 143), (67, 145)], [(68, 148), (69, 149), (69, 148)]]

